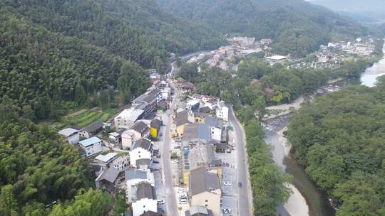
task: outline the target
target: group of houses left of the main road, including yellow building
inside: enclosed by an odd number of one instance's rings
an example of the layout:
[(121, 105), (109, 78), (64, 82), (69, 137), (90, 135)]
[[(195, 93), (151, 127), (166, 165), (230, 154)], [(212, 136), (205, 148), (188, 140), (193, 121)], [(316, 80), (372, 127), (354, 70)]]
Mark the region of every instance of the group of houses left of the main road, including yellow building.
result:
[(154, 113), (168, 109), (173, 90), (156, 72), (149, 73), (153, 86), (133, 99), (131, 107), (123, 109), (111, 124), (96, 122), (83, 129), (73, 126), (58, 131), (88, 158), (96, 188), (111, 193), (125, 188), (133, 216), (160, 215), (150, 167), (159, 156), (153, 140), (161, 136), (163, 121)]

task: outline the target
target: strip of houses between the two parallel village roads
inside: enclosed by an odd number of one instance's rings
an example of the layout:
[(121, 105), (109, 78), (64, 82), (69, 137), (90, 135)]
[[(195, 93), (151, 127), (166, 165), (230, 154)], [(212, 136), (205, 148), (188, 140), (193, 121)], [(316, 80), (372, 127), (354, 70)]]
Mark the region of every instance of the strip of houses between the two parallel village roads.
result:
[(228, 115), (229, 108), (217, 97), (193, 94), (173, 118), (178, 183), (190, 200), (185, 215), (220, 215), (222, 161), (217, 153), (230, 153), (234, 147), (228, 144)]

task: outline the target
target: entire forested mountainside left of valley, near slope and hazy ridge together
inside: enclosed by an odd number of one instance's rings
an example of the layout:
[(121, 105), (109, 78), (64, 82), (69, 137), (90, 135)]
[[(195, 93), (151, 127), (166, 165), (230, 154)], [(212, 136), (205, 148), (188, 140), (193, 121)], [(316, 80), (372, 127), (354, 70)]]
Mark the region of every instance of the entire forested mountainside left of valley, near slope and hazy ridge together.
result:
[(31, 119), (113, 99), (116, 88), (127, 103), (150, 85), (143, 68), (165, 68), (170, 52), (223, 43), (151, 0), (0, 0), (0, 8), (0, 98)]

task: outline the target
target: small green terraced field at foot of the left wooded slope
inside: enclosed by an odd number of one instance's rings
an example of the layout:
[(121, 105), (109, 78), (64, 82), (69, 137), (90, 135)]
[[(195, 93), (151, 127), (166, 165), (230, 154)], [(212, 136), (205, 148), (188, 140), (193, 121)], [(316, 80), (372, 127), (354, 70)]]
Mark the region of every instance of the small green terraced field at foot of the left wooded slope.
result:
[(90, 124), (95, 123), (96, 121), (107, 121), (113, 117), (115, 110), (109, 109), (108, 112), (102, 112), (101, 110), (91, 110), (91, 109), (81, 109), (78, 112), (73, 114), (68, 114), (65, 117), (62, 117), (60, 121), (55, 122), (58, 129), (63, 129), (68, 126), (78, 125), (81, 127), (86, 127)]

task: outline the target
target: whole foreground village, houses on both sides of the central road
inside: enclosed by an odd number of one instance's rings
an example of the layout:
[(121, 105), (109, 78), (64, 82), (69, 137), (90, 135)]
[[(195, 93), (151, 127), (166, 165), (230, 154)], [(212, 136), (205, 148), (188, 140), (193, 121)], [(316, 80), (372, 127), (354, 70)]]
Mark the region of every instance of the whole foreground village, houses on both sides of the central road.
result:
[(237, 215), (238, 188), (248, 189), (230, 109), (170, 76), (150, 70), (153, 86), (111, 122), (58, 133), (88, 159), (96, 188), (125, 191), (128, 215)]

